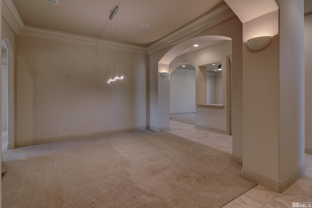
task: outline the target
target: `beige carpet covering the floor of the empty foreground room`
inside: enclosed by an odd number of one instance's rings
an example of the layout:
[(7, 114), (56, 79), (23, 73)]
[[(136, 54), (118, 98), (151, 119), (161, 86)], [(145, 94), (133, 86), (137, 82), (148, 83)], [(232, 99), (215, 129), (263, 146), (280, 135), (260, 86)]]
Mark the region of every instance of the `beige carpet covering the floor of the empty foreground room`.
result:
[(231, 154), (169, 132), (3, 152), (2, 208), (220, 208), (256, 184)]

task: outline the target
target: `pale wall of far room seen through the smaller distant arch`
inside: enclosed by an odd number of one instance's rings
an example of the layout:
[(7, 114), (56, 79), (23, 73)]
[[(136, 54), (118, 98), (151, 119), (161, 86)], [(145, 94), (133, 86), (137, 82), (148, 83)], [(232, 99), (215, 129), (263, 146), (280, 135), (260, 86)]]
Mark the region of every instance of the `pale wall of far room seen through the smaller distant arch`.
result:
[(170, 113), (195, 112), (195, 70), (176, 69), (169, 83)]

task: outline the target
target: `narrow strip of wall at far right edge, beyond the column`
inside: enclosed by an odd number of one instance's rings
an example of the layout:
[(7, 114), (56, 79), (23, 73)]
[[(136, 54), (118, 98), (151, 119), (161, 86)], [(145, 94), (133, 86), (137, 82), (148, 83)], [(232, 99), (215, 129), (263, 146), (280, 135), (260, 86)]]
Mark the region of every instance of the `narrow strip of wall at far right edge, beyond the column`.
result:
[(304, 16), (305, 50), (305, 149), (312, 154), (312, 13)]

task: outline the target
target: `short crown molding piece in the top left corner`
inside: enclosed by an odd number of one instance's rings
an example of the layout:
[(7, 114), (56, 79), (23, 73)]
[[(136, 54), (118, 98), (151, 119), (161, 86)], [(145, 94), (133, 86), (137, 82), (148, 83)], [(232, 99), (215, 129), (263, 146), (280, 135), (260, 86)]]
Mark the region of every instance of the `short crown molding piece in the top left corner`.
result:
[(2, 0), (2, 18), (12, 29), (15, 35), (18, 35), (20, 30), (24, 27), (24, 22), (20, 18), (20, 14), (16, 9), (12, 0)]

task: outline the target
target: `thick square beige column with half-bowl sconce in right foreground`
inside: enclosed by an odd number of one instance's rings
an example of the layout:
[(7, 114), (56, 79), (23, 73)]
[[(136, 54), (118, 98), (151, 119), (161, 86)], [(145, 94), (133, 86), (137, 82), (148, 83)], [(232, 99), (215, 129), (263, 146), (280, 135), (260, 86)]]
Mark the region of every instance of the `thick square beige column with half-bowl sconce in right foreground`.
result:
[(242, 176), (283, 192), (305, 174), (304, 16), (303, 0), (278, 2), (279, 25), (278, 12), (243, 25), (244, 35), (263, 24), (279, 36), (261, 51), (243, 44)]

